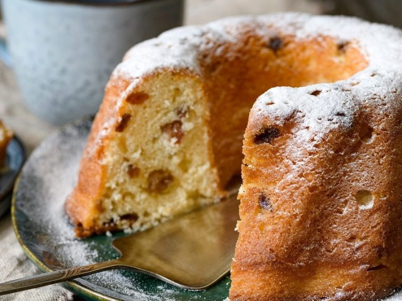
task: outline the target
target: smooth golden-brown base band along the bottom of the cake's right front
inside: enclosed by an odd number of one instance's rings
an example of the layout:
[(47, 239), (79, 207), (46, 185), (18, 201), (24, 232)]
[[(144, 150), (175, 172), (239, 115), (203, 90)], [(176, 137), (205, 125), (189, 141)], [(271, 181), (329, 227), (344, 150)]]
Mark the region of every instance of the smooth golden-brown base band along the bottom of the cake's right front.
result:
[(374, 301), (388, 296), (401, 284), (400, 279), (393, 278), (398, 273), (396, 269), (356, 270), (347, 263), (244, 269), (234, 262), (232, 269), (237, 276), (232, 279), (231, 287), (236, 289), (231, 289), (231, 301)]

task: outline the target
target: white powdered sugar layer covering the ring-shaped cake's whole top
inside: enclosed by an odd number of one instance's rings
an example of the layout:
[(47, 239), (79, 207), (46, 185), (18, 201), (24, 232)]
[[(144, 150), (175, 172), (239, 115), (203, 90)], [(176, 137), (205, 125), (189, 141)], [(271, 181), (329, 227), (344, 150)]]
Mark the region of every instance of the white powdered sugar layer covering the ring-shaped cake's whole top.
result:
[[(320, 139), (326, 129), (350, 124), (358, 109), (357, 99), (363, 101), (374, 91), (389, 100), (390, 104), (384, 109), (395, 105), (391, 104), (395, 97), (390, 96), (399, 91), (402, 78), (397, 64), (402, 51), (402, 31), (353, 17), (277, 13), (230, 17), (202, 26), (180, 27), (134, 46), (116, 67), (109, 83), (124, 85), (124, 93), (116, 100), (116, 112), (146, 76), (162, 70), (184, 70), (203, 78), (203, 64), (211, 57), (204, 54), (213, 53), (218, 57), (225, 52), (226, 57), (235, 55), (226, 46), (235, 45), (243, 35), (250, 33), (266, 39), (267, 43), (278, 33), (291, 36), (295, 41), (330, 37), (340, 48), (353, 45), (367, 61), (362, 71), (335, 83), (269, 89), (258, 98), (251, 110), (255, 120), (275, 116), (280, 123), (286, 116), (297, 112), (304, 116), (303, 123), (310, 129), (300, 131), (300, 135), (306, 132), (314, 139)], [(314, 91), (319, 91), (316, 92), (319, 95), (311, 95)], [(266, 105), (268, 102), (272, 104)], [(115, 116), (119, 118), (118, 114)], [(105, 123), (98, 138), (111, 130), (115, 122), (115, 118), (111, 118)]]

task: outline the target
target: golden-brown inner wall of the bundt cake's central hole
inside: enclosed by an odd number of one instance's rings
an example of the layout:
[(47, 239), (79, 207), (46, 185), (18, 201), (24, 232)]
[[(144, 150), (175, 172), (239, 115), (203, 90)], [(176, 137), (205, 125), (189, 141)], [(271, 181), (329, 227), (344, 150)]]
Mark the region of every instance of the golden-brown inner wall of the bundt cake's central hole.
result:
[[(335, 82), (367, 64), (358, 49), (349, 45), (343, 50), (344, 62), (339, 66), (339, 61), (331, 59), (339, 56), (339, 49), (330, 37), (295, 42), (293, 36), (278, 31), (268, 39), (256, 36), (252, 25), (239, 32), (235, 44), (217, 43), (220, 51), (209, 50), (200, 61), (213, 101), (212, 141), (223, 186), (240, 172), (240, 164), (234, 163), (243, 158), (242, 133), (249, 109), (259, 95), (276, 86), (297, 87), (322, 79)], [(275, 49), (272, 41), (276, 41)]]

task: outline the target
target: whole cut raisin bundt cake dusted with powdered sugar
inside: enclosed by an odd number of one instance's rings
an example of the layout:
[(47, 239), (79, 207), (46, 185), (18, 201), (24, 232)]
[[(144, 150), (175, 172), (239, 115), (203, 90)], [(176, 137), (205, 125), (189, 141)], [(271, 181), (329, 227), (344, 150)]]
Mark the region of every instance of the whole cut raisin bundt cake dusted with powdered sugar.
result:
[(402, 275), (401, 50), (392, 27), (294, 13), (135, 46), (66, 202), (77, 236), (224, 197), (247, 126), (231, 300), (385, 296)]

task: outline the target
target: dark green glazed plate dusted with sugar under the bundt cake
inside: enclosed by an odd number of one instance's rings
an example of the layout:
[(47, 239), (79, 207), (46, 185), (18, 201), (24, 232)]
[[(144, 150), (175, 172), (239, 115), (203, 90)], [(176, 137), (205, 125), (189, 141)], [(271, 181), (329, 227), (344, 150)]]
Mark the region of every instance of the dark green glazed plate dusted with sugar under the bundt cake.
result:
[[(84, 118), (71, 123), (33, 152), (16, 185), (12, 216), (14, 229), (28, 257), (43, 271), (105, 261), (118, 256), (113, 237), (74, 238), (63, 210), (73, 188), (78, 164), (92, 123)], [(114, 237), (122, 236), (117, 233)], [(204, 291), (186, 291), (129, 270), (112, 270), (64, 283), (90, 300), (224, 300), (230, 279), (225, 277)]]

